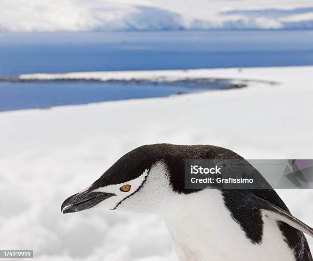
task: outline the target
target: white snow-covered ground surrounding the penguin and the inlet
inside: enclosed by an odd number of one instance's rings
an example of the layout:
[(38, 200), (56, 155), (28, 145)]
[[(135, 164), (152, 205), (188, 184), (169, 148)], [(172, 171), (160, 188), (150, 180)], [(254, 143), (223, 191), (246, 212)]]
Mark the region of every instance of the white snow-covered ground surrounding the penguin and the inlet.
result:
[[(258, 81), (169, 98), (0, 113), (0, 249), (33, 249), (35, 260), (176, 260), (159, 217), (97, 209), (62, 215), (60, 205), (143, 144), (211, 144), (247, 159), (313, 156), (313, 67), (73, 75)], [(312, 190), (278, 193), (313, 226)]]

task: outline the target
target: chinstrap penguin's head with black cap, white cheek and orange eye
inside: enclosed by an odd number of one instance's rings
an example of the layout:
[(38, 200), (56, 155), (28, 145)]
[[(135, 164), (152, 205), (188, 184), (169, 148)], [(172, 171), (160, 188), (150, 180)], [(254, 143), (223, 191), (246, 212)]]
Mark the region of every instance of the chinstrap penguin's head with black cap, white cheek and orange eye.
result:
[(70, 213), (97, 207), (160, 213), (175, 193), (163, 149), (160, 149), (149, 145), (127, 153), (91, 186), (66, 199), (61, 211)]

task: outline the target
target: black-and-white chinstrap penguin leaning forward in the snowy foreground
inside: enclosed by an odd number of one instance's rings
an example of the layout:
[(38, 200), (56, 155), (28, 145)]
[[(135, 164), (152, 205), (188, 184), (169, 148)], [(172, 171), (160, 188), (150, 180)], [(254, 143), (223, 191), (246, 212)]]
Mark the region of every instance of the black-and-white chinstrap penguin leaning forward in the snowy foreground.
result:
[(244, 160), (214, 146), (145, 145), (66, 199), (61, 211), (99, 207), (161, 215), (181, 261), (312, 261), (303, 232), (313, 236), (313, 229), (291, 215), (274, 189), (185, 189), (186, 159)]

